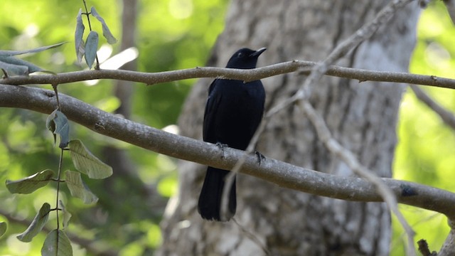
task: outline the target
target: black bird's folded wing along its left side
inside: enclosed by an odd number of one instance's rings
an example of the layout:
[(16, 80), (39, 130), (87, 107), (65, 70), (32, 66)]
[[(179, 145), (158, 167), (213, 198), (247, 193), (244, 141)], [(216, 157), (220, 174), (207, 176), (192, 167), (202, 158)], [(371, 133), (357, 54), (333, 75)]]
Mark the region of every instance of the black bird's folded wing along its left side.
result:
[(211, 142), (216, 143), (216, 136), (215, 136), (215, 120), (216, 120), (216, 113), (218, 112), (218, 106), (221, 102), (221, 94), (215, 90), (216, 84), (220, 82), (220, 80), (215, 79), (213, 80), (212, 84), (208, 89), (208, 99), (207, 103), (205, 104), (205, 112), (204, 112), (204, 124), (203, 124), (203, 139), (204, 142)]

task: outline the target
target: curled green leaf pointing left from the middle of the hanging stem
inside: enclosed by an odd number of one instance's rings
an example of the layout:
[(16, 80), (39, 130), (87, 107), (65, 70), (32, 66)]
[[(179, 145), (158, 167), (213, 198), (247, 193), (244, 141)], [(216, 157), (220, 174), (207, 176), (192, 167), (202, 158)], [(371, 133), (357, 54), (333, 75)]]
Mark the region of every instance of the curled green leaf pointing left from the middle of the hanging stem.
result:
[(6, 188), (8, 188), (10, 193), (32, 193), (38, 188), (46, 186), (51, 180), (54, 172), (50, 169), (45, 169), (44, 171), (33, 174), (26, 178), (21, 178), (18, 181), (9, 181), (6, 180)]

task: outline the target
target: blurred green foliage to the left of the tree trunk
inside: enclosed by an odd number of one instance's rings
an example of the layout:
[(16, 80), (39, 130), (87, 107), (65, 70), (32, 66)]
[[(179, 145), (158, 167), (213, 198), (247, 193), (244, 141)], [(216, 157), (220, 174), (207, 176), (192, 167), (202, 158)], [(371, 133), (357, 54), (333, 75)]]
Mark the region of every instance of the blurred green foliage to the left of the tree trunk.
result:
[[(157, 72), (205, 65), (210, 48), (223, 31), (227, 0), (165, 0), (139, 1), (137, 16), (137, 70)], [(121, 1), (87, 1), (95, 6), (110, 30), (121, 38)], [(17, 0), (0, 1), (5, 14), (0, 21), (0, 48), (23, 50), (66, 43), (60, 48), (26, 55), (24, 59), (55, 73), (82, 70), (86, 65), (77, 63), (74, 46), (76, 16), (83, 9), (81, 1)], [(7, 13), (7, 15), (6, 15)], [(88, 33), (87, 20), (85, 36)], [(92, 28), (102, 33), (100, 23), (91, 17)], [(100, 37), (100, 45), (107, 45)], [(112, 46), (119, 52), (119, 44)], [(134, 85), (132, 117), (156, 128), (176, 124), (178, 114), (194, 80), (162, 85)], [(76, 97), (107, 112), (119, 107), (113, 94), (113, 82), (98, 81), (95, 86), (78, 82), (58, 87), (59, 92)], [(51, 89), (48, 85), (40, 85)], [(45, 129), (45, 114), (27, 110), (1, 109), (0, 121), (0, 184), (6, 179), (16, 180), (44, 169), (58, 169), (58, 149)], [(96, 156), (105, 156), (105, 146), (125, 149), (132, 159), (138, 178), (84, 179), (100, 201), (84, 205), (72, 198), (63, 186), (60, 198), (73, 214), (68, 233), (93, 240), (100, 250), (113, 250), (119, 255), (150, 255), (161, 242), (159, 221), (167, 198), (176, 192), (176, 160), (154, 154), (124, 142), (103, 137), (70, 123), (70, 138), (80, 139)], [(106, 160), (106, 159), (103, 159)], [(116, 166), (113, 166), (114, 174)], [(65, 156), (63, 171), (75, 170), (69, 154)], [(84, 178), (84, 177), (82, 177)], [(55, 184), (54, 184), (55, 185)], [(31, 195), (11, 195), (6, 187), (0, 189), (0, 221), (9, 224), (7, 233), (0, 238), (0, 255), (39, 255), (45, 235), (38, 235), (30, 243), (16, 239), (26, 229), (19, 220), (31, 220), (41, 205), (55, 204), (55, 186), (46, 186)], [(16, 218), (9, 221), (1, 214)], [(50, 213), (48, 228), (55, 228), (55, 212)], [(73, 244), (75, 255), (93, 255)]]

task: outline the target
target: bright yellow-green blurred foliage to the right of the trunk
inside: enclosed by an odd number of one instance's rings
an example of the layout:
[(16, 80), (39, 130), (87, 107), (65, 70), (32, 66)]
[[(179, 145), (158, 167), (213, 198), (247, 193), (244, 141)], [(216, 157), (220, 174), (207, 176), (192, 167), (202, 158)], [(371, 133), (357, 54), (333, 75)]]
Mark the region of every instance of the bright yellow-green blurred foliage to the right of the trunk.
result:
[[(455, 79), (455, 26), (442, 1), (432, 1), (422, 10), (418, 41), (410, 72)], [(455, 112), (455, 91), (422, 87), (447, 110)], [(400, 108), (399, 138), (394, 178), (414, 181), (455, 192), (455, 132), (408, 89)], [(430, 250), (439, 251), (449, 226), (444, 215), (410, 206), (400, 206), (414, 228), (414, 241), (427, 240)], [(404, 231), (394, 218), (392, 255), (405, 255)]]

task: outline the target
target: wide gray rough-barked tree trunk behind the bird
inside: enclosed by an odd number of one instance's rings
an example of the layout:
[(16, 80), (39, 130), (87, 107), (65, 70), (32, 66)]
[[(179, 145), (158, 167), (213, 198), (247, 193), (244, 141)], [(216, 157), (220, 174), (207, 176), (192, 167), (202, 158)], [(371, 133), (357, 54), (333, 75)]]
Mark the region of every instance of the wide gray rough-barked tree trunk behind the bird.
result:
[[(287, 60), (322, 60), (341, 41), (373, 19), (388, 1), (235, 0), (225, 31), (208, 65), (224, 67), (237, 48), (267, 47), (258, 66)], [(417, 1), (338, 65), (407, 71), (414, 48)], [(266, 109), (290, 97), (305, 77), (291, 73), (262, 80)], [(210, 80), (189, 95), (181, 134), (201, 139)], [(390, 177), (397, 137), (397, 112), (405, 85), (323, 78), (312, 85), (311, 104), (333, 136), (379, 176)], [(295, 107), (276, 114), (257, 146), (264, 156), (317, 171), (350, 176), (352, 171), (319, 142), (314, 127)], [(162, 223), (159, 255), (388, 255), (390, 213), (382, 203), (353, 203), (279, 188), (250, 176), (237, 178), (234, 222), (203, 221), (196, 206), (205, 166), (180, 164), (180, 192)], [(247, 230), (247, 232), (245, 232)]]

